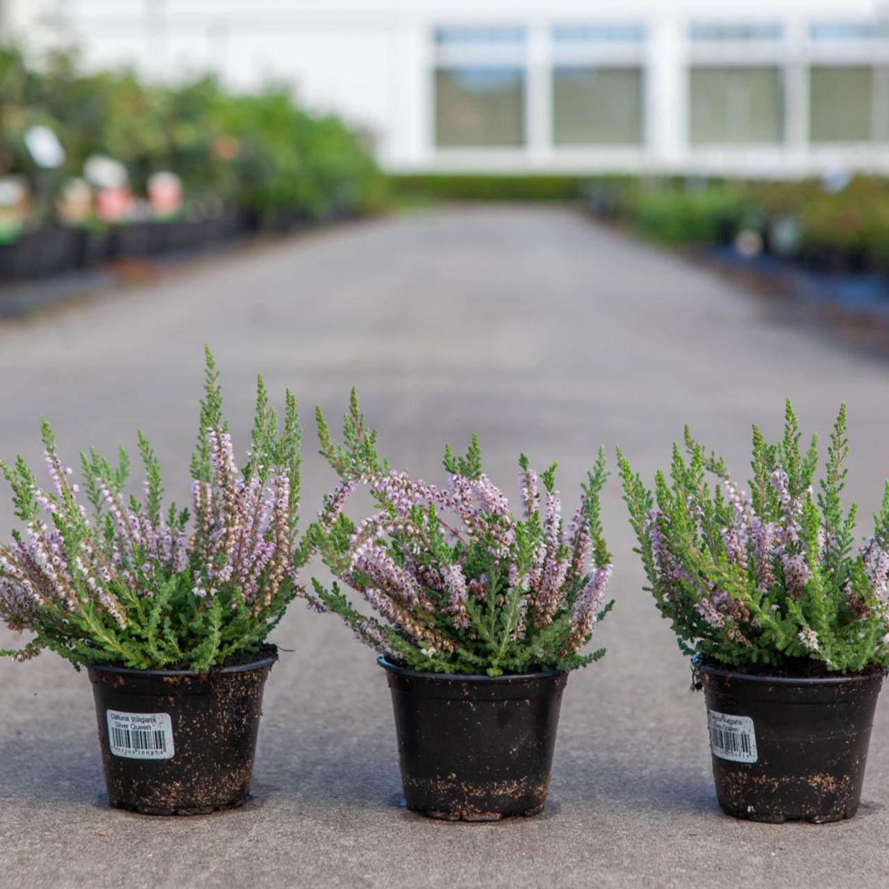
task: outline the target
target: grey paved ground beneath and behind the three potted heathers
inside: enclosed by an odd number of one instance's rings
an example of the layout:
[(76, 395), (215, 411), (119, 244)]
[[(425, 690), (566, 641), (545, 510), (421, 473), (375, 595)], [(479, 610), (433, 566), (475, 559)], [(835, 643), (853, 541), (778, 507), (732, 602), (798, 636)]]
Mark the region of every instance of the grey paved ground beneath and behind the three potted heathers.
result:
[[(862, 515), (889, 476), (885, 360), (573, 212), (525, 207), (362, 223), (8, 326), (0, 453), (40, 461), (41, 413), (69, 461), (132, 444), (140, 426), (184, 498), (204, 342), (241, 444), (257, 371), (272, 393), (300, 396), (307, 515), (332, 484), (311, 408), (339, 415), (352, 384), (396, 466), (441, 480), (445, 441), (477, 430), (512, 493), (520, 449), (541, 467), (560, 461), (566, 509), (599, 443), (651, 477), (685, 422), (745, 477), (750, 423), (777, 436), (786, 395), (822, 434), (849, 404)], [(0, 885), (886, 885), (885, 696), (857, 818), (726, 818), (704, 702), (640, 592), (615, 480), (605, 521), (617, 605), (596, 642), (608, 654), (570, 679), (540, 817), (447, 824), (401, 808), (382, 672), (334, 616), (297, 603), (274, 637), (290, 651), (268, 685), (255, 798), (237, 812), (109, 810), (86, 677), (52, 654), (0, 664)], [(11, 526), (4, 497), (0, 530)]]

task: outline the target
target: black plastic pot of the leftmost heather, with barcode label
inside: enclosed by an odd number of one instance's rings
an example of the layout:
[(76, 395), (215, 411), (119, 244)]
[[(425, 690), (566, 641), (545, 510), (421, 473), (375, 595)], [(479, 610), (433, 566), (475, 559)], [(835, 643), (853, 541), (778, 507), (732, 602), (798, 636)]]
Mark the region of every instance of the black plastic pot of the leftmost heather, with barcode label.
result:
[(108, 802), (148, 815), (195, 815), (250, 795), (262, 691), (274, 645), (204, 673), (87, 668)]

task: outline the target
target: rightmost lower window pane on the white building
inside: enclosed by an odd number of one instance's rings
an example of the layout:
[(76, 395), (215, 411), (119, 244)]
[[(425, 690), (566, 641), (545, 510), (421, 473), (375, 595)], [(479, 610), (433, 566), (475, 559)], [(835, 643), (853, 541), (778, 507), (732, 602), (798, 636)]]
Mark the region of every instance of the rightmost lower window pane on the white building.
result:
[(813, 142), (867, 142), (873, 137), (873, 69), (818, 66), (809, 74)]

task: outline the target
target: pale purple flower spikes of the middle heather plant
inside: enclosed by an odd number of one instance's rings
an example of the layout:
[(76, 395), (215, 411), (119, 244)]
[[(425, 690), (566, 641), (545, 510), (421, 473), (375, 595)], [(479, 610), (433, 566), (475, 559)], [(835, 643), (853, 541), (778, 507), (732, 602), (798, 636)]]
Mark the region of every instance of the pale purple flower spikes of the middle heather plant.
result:
[[(566, 613), (563, 653), (579, 652), (602, 611), (611, 566), (589, 565), (592, 541), (582, 503), (565, 531), (558, 494), (549, 492), (541, 522), (536, 474), (527, 469), (519, 479), (523, 537), (537, 529), (524, 563), (520, 523), (487, 476), (451, 472), (447, 487), (440, 488), (393, 470), (362, 479), (383, 508), (355, 526), (348, 550), (332, 564), (334, 572), (431, 657), (471, 646), (479, 637), (474, 604), (490, 605), (492, 593), (489, 574), (473, 572), (481, 547), (490, 557), (489, 570), (498, 575), (494, 607), (515, 609), (509, 640), (525, 639), (529, 615), (539, 631)], [(320, 517), (325, 530), (354, 490), (354, 483), (340, 485), (327, 498)], [(372, 623), (353, 629), (372, 647), (387, 649)]]

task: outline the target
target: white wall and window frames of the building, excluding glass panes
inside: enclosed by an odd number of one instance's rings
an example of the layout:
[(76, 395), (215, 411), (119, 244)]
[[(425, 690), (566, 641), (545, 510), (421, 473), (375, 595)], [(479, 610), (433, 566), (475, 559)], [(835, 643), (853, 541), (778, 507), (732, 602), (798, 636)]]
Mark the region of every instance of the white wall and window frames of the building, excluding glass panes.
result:
[[(880, 0), (6, 0), (12, 28), (40, 47), (75, 40), (92, 67), (129, 64), (175, 79), (212, 69), (236, 88), (292, 84), (300, 100), (336, 111), (372, 132), (393, 170), (661, 170), (782, 175), (837, 164), (889, 172), (885, 146), (810, 147), (805, 70), (813, 52), (889, 64), (889, 46), (813, 50), (810, 21), (889, 21)], [(55, 24), (47, 24), (47, 14)], [(787, 141), (777, 148), (692, 149), (687, 143), (686, 72), (700, 54), (692, 21), (779, 22), (773, 49), (736, 46), (733, 58), (785, 67)], [(554, 149), (549, 144), (549, 29), (554, 23), (643, 22), (645, 145)], [(436, 150), (432, 72), (439, 24), (509, 23), (528, 28), (529, 140), (517, 149)], [(723, 52), (720, 47), (717, 52)], [(763, 55), (765, 52), (765, 56)], [(831, 55), (833, 53), (833, 55)]]

